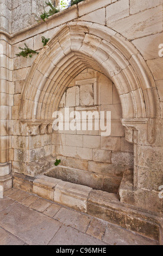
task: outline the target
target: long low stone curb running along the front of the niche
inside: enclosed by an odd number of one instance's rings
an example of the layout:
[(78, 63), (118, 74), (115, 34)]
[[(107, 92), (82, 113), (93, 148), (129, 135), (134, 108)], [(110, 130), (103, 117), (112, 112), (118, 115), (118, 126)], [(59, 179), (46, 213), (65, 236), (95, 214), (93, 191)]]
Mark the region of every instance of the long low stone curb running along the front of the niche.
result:
[(65, 182), (45, 175), (14, 174), (13, 186), (82, 211), (162, 243), (162, 215), (120, 202), (117, 194)]

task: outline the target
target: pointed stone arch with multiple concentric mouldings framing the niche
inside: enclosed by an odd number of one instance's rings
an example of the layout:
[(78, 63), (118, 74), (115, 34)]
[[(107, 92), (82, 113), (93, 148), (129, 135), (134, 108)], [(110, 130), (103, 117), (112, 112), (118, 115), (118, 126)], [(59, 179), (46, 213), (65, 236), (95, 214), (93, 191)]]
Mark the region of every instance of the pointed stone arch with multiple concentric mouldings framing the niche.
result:
[[(28, 126), (28, 134), (52, 132), (52, 114), (58, 109), (66, 87), (86, 68), (102, 72), (114, 82), (126, 131), (146, 123), (152, 142), (155, 83), (145, 60), (123, 36), (91, 22), (68, 23), (35, 59), (24, 83), (20, 105), (20, 121), (22, 127)], [(131, 138), (131, 132), (128, 137)]]

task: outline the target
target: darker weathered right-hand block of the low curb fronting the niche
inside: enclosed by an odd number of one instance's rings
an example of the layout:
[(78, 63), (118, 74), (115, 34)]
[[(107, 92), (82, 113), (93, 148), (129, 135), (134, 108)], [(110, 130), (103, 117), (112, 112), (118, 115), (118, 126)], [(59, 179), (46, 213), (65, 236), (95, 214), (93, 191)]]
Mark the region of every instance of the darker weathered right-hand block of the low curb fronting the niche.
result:
[(159, 240), (161, 215), (121, 203), (115, 196), (93, 190), (87, 202), (87, 214)]

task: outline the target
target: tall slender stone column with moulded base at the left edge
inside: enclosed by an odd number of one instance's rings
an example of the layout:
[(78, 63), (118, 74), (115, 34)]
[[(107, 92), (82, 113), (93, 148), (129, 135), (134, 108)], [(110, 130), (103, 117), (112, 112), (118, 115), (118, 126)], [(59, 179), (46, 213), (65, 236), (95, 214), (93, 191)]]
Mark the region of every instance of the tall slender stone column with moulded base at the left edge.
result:
[(8, 1), (0, 1), (0, 185), (4, 190), (12, 186), (11, 107), (14, 103), (14, 88), (8, 35), (9, 11)]

